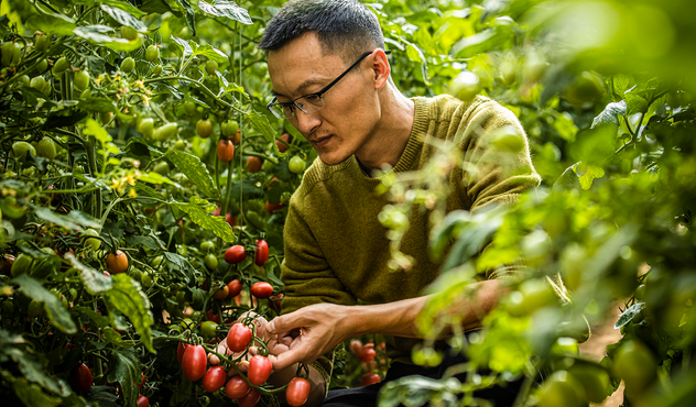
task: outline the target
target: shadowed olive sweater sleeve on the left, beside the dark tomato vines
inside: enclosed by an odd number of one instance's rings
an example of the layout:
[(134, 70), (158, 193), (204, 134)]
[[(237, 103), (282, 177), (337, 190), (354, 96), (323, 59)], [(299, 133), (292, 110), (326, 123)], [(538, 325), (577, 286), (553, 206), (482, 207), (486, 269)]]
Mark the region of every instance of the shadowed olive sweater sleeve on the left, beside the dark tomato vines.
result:
[[(283, 230), (285, 257), (281, 265), (284, 284), (282, 314), (318, 304), (355, 305), (356, 298), (348, 293), (322, 254), (312, 230), (302, 217), (302, 199), (295, 193), (290, 202)], [(328, 391), (334, 364), (334, 351), (312, 363), (324, 377)]]

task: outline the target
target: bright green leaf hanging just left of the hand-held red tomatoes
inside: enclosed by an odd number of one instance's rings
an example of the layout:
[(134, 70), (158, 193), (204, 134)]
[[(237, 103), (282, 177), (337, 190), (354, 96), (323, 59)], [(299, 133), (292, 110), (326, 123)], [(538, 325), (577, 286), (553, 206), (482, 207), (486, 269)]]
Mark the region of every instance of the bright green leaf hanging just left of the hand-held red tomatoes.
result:
[(152, 346), (152, 334), (150, 333), (150, 326), (154, 323), (154, 318), (150, 311), (150, 300), (140, 289), (140, 283), (126, 273), (117, 274), (111, 279), (113, 282), (112, 288), (105, 293), (105, 299), (108, 299), (113, 308), (131, 320), (140, 333), (140, 341), (150, 352), (156, 353)]

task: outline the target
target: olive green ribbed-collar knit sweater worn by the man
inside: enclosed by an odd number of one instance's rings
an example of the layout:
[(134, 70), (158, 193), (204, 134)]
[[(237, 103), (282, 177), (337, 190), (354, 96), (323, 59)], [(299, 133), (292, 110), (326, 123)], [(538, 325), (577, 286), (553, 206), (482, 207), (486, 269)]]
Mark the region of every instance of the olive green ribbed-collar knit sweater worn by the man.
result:
[[(508, 204), (540, 177), (530, 158), (524, 131), (514, 114), (497, 102), (478, 97), (463, 102), (449, 96), (414, 98), (415, 118), (405, 150), (394, 172), (417, 170), (434, 154), (427, 138), (453, 142), (464, 157), (449, 176), (447, 210), (475, 211), (490, 204)], [(523, 135), (524, 147), (512, 160), (499, 158), (491, 143), (505, 127)], [(503, 164), (504, 163), (504, 164)], [(471, 166), (478, 176), (471, 176)], [(316, 160), (290, 200), (285, 222), (285, 284), (283, 314), (316, 304), (383, 304), (421, 295), (438, 275), (428, 257), (428, 212), (413, 211), (401, 251), (415, 258), (409, 271), (390, 271), (387, 229), (378, 213), (389, 201), (374, 194), (379, 178), (366, 176), (355, 156), (329, 166)], [(496, 272), (487, 272), (496, 278)], [(410, 362), (416, 340), (388, 338), (392, 360)], [(330, 355), (315, 366), (328, 378)], [(327, 382), (328, 383), (328, 382)]]

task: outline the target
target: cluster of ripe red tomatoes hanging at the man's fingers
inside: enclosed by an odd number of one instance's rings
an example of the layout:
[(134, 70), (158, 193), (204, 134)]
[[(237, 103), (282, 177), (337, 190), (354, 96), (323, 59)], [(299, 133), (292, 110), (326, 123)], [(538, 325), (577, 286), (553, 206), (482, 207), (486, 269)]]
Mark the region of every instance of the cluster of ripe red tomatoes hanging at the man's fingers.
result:
[[(226, 343), (230, 352), (239, 355), (231, 363), (237, 363), (248, 358), (247, 352), (254, 340), (253, 331), (244, 323), (237, 322), (230, 328)], [(271, 376), (273, 365), (271, 361), (261, 354), (251, 356), (248, 361), (247, 374), (230, 369), (225, 370), (220, 363), (219, 355), (206, 352), (202, 345), (186, 343), (178, 344), (177, 358), (182, 365), (184, 376), (196, 382), (202, 380), (203, 388), (208, 393), (215, 393), (224, 388), (225, 395), (236, 399), (242, 407), (255, 406), (261, 398), (261, 391), (257, 388), (267, 383)], [(211, 365), (208, 367), (208, 362)], [(303, 377), (294, 377), (285, 389), (287, 404), (291, 406), (302, 406), (309, 395), (309, 382)]]

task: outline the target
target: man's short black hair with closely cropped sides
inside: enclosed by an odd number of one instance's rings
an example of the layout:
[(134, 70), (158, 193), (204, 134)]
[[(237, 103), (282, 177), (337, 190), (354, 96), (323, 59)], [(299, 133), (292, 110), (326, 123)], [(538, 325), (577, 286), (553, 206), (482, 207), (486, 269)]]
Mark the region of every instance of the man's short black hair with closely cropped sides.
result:
[(260, 50), (280, 50), (306, 32), (316, 32), (324, 54), (346, 63), (374, 47), (384, 50), (380, 23), (357, 0), (291, 0), (269, 21)]

